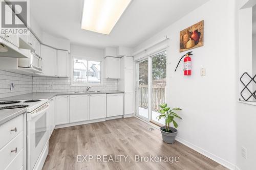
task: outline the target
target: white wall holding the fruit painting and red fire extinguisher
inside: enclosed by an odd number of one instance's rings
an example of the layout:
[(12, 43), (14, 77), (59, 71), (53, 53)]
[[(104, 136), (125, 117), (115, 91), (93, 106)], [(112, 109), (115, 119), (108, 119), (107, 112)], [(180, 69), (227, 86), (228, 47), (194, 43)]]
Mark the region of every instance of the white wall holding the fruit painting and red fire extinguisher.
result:
[[(234, 5), (232, 0), (211, 0), (135, 48), (170, 38), (166, 100), (170, 107), (183, 109), (178, 139), (230, 168), (236, 164)], [(185, 77), (182, 64), (174, 72), (185, 54), (179, 53), (179, 33), (201, 20), (204, 46), (191, 50), (193, 73)], [(206, 76), (200, 76), (200, 68), (206, 68)]]

